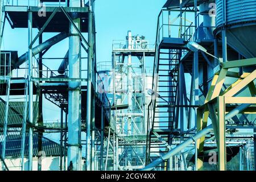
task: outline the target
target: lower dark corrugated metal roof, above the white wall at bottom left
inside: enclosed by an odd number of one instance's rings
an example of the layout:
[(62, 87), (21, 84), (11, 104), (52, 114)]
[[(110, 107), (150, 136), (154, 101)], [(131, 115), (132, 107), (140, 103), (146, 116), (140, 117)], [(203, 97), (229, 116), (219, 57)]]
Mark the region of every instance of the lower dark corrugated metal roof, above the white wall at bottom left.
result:
[[(20, 148), (22, 142), (20, 131), (9, 131), (6, 140), (6, 157), (20, 157)], [(0, 155), (2, 155), (3, 134), (0, 134)], [(42, 137), (42, 151), (46, 156), (60, 156), (60, 144)], [(63, 149), (64, 150), (64, 149)], [(38, 155), (38, 134), (33, 134), (33, 156)], [(28, 133), (25, 139), (24, 156), (28, 156)]]

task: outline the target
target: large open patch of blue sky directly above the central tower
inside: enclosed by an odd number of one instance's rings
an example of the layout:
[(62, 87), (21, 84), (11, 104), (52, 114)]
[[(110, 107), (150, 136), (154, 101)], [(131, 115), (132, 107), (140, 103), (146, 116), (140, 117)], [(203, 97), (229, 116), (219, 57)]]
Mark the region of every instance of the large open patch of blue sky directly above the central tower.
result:
[(96, 0), (97, 60), (111, 61), (112, 41), (125, 39), (127, 31), (155, 43), (158, 14), (166, 0)]

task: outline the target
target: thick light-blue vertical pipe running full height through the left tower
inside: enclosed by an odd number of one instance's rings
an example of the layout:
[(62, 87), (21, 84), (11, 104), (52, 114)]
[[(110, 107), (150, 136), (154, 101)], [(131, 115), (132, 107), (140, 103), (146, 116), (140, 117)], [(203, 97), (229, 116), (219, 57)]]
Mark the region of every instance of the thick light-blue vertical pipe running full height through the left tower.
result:
[[(70, 7), (81, 7), (81, 1), (69, 1)], [(72, 19), (80, 27), (80, 18)], [(76, 28), (69, 24), (69, 78), (81, 78), (81, 42)], [(81, 170), (81, 82), (68, 82), (68, 165)]]

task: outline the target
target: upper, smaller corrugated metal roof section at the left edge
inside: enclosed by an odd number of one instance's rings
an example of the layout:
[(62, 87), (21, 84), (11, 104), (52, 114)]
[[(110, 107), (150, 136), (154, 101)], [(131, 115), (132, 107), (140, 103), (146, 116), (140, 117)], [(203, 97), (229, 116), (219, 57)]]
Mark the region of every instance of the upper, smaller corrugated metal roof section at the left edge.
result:
[[(21, 125), (22, 118), (24, 113), (24, 102), (9, 102), (9, 105), (13, 107), (10, 109), (9, 107), (9, 117), (8, 117), (8, 125)], [(0, 126), (3, 126), (5, 122), (5, 110), (6, 105), (3, 102), (0, 102)], [(38, 102), (34, 102), (34, 121), (37, 120), (38, 117)], [(27, 109), (27, 119), (28, 119), (28, 109)]]

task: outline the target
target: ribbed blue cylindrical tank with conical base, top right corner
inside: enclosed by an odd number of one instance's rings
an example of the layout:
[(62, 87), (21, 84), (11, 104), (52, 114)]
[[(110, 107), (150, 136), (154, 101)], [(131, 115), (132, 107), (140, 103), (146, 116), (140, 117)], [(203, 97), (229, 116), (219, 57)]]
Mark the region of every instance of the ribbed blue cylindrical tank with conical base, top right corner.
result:
[(216, 0), (216, 34), (226, 30), (229, 46), (256, 57), (256, 0)]

